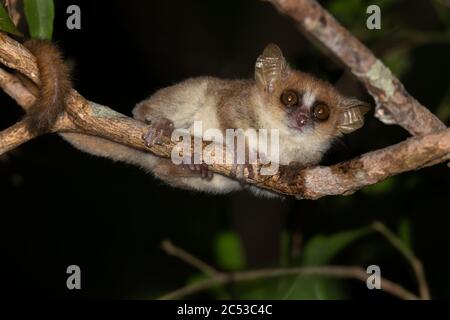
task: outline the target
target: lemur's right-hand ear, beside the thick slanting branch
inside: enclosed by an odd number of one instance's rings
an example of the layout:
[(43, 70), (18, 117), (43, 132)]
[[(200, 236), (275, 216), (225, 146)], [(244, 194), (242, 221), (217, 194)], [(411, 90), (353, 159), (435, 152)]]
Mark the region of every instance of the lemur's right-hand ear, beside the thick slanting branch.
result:
[(370, 110), (370, 104), (354, 98), (342, 101), (337, 128), (342, 133), (350, 133), (364, 125), (364, 114)]

